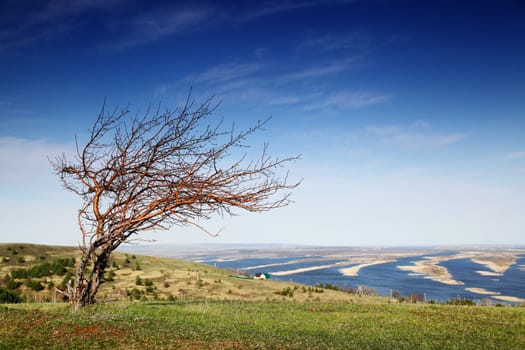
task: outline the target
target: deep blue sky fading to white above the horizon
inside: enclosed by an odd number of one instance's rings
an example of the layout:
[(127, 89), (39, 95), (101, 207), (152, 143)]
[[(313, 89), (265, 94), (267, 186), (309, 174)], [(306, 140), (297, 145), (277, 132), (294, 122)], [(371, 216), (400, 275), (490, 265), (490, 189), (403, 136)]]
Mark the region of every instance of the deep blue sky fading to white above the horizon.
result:
[(111, 107), (215, 95), (301, 154), (291, 206), (169, 243), (525, 244), (521, 1), (0, 3), (1, 241), (78, 243), (47, 157)]

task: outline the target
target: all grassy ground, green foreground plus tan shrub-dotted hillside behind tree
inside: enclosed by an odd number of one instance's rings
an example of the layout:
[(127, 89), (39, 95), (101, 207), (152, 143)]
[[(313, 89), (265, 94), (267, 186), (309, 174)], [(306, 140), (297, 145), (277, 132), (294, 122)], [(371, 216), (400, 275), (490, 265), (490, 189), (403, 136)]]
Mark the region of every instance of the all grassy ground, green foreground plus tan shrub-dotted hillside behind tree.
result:
[(121, 253), (100, 303), (78, 312), (53, 302), (72, 267), (12, 278), (71, 257), (77, 249), (0, 244), (2, 288), (26, 301), (0, 305), (0, 349), (525, 349), (524, 307), (400, 304)]

